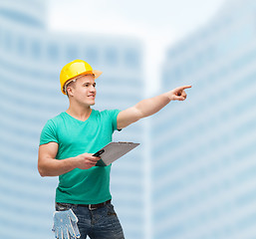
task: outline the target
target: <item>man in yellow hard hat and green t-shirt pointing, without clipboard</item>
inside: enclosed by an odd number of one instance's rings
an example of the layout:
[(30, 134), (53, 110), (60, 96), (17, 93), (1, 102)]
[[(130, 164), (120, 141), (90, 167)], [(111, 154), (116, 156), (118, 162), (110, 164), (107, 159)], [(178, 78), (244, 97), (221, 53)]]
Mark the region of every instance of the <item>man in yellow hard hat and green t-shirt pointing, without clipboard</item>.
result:
[(102, 74), (82, 60), (67, 64), (60, 76), (69, 109), (49, 119), (39, 146), (41, 176), (59, 176), (54, 228), (56, 238), (122, 239), (119, 218), (111, 203), (111, 165), (96, 166), (93, 154), (112, 141), (116, 129), (149, 117), (170, 101), (186, 99), (184, 86), (143, 100), (125, 111), (95, 111), (96, 82)]

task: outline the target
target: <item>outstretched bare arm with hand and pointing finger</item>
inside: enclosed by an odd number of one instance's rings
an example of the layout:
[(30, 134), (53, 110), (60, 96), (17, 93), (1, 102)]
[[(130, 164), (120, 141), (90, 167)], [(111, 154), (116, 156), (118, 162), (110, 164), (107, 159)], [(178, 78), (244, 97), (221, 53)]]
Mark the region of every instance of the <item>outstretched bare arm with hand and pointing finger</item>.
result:
[(184, 90), (189, 88), (191, 88), (191, 86), (179, 87), (157, 97), (142, 100), (134, 107), (128, 108), (119, 114), (118, 128), (124, 128), (138, 119), (154, 115), (164, 108), (170, 101), (184, 101), (186, 99)]

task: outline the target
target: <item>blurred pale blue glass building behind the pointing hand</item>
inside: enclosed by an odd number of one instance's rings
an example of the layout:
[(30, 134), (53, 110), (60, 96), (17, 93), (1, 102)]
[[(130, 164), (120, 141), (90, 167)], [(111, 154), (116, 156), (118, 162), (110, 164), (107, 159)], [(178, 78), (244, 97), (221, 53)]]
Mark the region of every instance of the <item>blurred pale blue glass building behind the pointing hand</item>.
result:
[(166, 54), (163, 89), (192, 88), (151, 120), (152, 238), (256, 237), (255, 9), (234, 1)]

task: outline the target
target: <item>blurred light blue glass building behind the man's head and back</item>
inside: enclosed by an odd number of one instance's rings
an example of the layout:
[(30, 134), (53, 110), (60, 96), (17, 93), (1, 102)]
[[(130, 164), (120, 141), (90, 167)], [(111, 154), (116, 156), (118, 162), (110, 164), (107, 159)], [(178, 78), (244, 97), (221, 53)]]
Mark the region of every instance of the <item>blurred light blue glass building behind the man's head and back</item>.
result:
[[(142, 91), (140, 65), (128, 68), (125, 64), (130, 49), (141, 62), (140, 42), (50, 32), (43, 24), (46, 7), (45, 1), (20, 4), (13, 0), (0, 10), (0, 238), (54, 238), (58, 178), (39, 175), (37, 153), (47, 119), (68, 108), (68, 99), (60, 91), (62, 67), (79, 58), (104, 72), (97, 82), (95, 110), (125, 110), (140, 100)], [(42, 24), (35, 27), (36, 23)], [(115, 140), (142, 143), (143, 130), (137, 123), (116, 132)], [(142, 160), (142, 151), (136, 149), (112, 169), (114, 204), (127, 238), (140, 239), (144, 234)]]

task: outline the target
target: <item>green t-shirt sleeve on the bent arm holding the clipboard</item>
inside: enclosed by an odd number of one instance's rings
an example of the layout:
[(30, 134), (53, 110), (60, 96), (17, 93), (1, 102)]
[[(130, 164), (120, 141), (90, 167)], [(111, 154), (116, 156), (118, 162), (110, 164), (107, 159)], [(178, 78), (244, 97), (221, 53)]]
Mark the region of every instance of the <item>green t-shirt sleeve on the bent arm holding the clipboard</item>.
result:
[(56, 124), (53, 122), (53, 120), (49, 119), (42, 129), (39, 145), (46, 144), (51, 141), (59, 143), (56, 132)]

